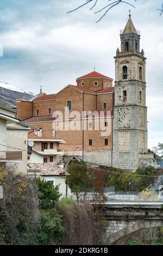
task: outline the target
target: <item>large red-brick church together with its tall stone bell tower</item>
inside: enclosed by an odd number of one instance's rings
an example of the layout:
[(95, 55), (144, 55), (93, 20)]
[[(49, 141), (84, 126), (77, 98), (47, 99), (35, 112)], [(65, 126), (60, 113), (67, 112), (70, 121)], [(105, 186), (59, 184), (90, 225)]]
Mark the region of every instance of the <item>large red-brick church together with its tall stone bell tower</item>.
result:
[[(146, 57), (130, 15), (120, 38), (114, 86), (112, 78), (94, 70), (56, 94), (41, 89), (33, 99), (17, 100), (17, 118), (35, 127), (28, 139), (40, 143), (44, 162), (75, 158), (130, 171), (154, 166), (147, 147)], [(77, 129), (70, 129), (72, 121)], [(103, 125), (95, 129), (97, 121)]]

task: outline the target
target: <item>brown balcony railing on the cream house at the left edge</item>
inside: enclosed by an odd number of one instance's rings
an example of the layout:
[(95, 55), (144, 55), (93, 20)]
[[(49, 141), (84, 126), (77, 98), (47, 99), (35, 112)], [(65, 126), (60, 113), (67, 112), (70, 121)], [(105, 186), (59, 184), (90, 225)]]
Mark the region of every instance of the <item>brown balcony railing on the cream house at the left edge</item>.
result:
[(0, 162), (22, 161), (22, 151), (0, 151)]

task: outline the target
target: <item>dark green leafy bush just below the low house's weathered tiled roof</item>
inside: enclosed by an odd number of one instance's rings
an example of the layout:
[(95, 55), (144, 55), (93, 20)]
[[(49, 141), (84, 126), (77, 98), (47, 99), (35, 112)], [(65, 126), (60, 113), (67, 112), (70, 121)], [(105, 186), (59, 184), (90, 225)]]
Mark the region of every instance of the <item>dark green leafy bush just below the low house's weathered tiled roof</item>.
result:
[(37, 178), (36, 181), (40, 192), (41, 209), (52, 209), (55, 201), (59, 200), (61, 196), (59, 186), (54, 187), (53, 182), (41, 180), (40, 178)]

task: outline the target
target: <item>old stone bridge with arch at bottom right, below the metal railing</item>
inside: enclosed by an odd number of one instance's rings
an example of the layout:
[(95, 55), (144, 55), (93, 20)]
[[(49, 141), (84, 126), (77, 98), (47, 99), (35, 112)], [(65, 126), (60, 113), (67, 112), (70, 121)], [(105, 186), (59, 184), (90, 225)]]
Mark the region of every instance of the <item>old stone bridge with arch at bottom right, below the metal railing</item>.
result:
[(122, 245), (136, 231), (163, 227), (163, 209), (159, 204), (108, 204), (98, 209), (108, 220), (108, 228), (101, 236), (102, 245)]

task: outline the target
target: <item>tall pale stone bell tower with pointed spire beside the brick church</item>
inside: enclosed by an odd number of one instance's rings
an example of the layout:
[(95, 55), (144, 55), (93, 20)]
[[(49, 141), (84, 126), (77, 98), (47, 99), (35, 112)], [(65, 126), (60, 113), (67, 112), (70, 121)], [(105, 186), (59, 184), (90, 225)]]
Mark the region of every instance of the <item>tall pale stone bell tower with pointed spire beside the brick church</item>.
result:
[(146, 58), (140, 52), (140, 31), (131, 15), (120, 33), (115, 57), (115, 106), (112, 165), (128, 170), (140, 166), (147, 153)]

